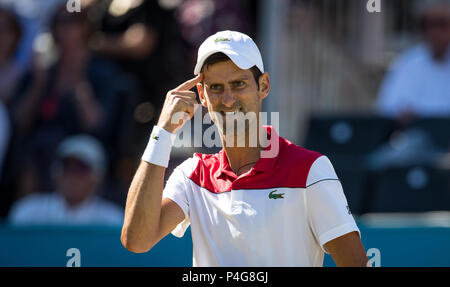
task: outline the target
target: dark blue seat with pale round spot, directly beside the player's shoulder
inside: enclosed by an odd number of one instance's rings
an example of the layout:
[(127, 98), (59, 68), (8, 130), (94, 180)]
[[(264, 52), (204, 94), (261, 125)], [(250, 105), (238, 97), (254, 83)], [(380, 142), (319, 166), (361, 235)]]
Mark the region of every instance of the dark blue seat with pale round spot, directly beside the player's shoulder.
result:
[(389, 138), (394, 126), (391, 119), (371, 115), (313, 115), (310, 119), (304, 146), (330, 158), (353, 214), (363, 212), (365, 156)]

